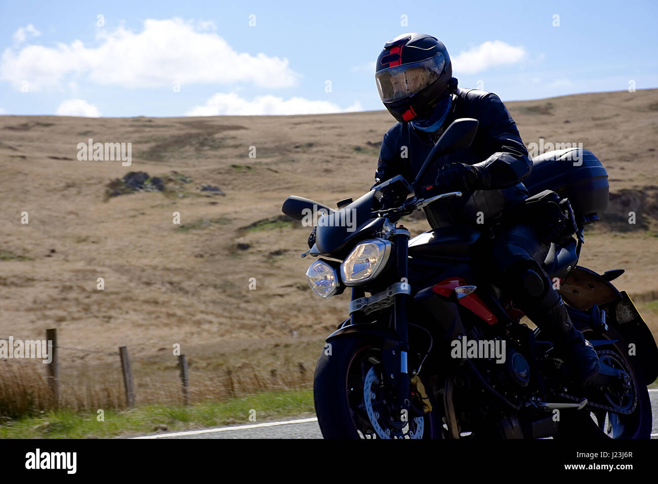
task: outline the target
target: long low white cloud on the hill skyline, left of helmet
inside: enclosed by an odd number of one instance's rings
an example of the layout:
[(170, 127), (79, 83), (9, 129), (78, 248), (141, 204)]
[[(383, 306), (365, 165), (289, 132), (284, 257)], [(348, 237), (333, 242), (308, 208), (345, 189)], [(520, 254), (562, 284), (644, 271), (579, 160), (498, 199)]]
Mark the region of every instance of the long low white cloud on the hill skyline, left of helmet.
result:
[(340, 106), (329, 101), (311, 101), (303, 97), (284, 99), (274, 95), (261, 95), (248, 101), (232, 92), (228, 94), (217, 93), (205, 105), (195, 106), (186, 113), (188, 116), (220, 116), (220, 115), (310, 115), (323, 113), (345, 113), (349, 111), (362, 111), (361, 103), (355, 101), (353, 105), (341, 109)]

